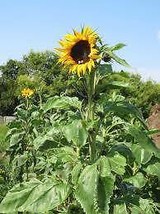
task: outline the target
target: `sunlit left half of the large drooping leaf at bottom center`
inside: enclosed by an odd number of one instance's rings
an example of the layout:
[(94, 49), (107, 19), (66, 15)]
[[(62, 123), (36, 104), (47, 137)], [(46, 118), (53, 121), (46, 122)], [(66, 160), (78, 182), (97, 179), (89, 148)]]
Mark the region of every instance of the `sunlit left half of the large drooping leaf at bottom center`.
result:
[(75, 197), (87, 214), (98, 214), (95, 210), (97, 181), (98, 171), (96, 164), (86, 166), (78, 179)]

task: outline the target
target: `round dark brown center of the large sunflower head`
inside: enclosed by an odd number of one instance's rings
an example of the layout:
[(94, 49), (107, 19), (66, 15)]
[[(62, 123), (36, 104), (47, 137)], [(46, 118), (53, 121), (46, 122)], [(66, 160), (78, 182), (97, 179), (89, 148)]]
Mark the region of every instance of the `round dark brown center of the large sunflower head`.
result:
[(91, 48), (89, 42), (80, 40), (72, 47), (70, 56), (76, 63), (83, 64), (89, 61), (90, 52)]

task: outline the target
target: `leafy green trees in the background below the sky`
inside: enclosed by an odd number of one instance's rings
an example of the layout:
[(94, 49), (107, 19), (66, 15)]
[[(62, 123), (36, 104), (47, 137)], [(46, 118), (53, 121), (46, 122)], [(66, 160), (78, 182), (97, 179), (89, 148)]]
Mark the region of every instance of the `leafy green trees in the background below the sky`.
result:
[[(57, 55), (52, 51), (34, 52), (23, 56), (22, 60), (9, 60), (0, 66), (0, 114), (13, 114), (19, 103), (20, 91), (30, 86), (46, 100), (49, 96), (67, 94), (86, 98), (83, 78), (77, 81), (76, 75), (69, 74), (57, 63)], [(121, 87), (111, 82), (126, 83), (128, 87)], [(78, 84), (78, 85), (77, 85)], [(139, 107), (145, 118), (148, 117), (152, 105), (160, 103), (160, 84), (154, 81), (142, 81), (141, 76), (126, 71), (109, 72), (101, 80), (99, 91), (108, 93), (117, 92)], [(36, 100), (35, 100), (36, 101)]]

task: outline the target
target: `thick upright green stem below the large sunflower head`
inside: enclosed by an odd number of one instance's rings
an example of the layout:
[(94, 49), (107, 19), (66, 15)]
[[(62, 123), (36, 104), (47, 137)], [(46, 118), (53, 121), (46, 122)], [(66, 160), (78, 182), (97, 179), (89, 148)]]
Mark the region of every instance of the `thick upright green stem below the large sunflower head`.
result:
[[(88, 75), (87, 88), (88, 88), (88, 109), (87, 109), (87, 121), (94, 121), (94, 94), (95, 94), (95, 86), (96, 86), (96, 72), (93, 71)], [(93, 163), (96, 159), (96, 142), (95, 142), (95, 133), (94, 129), (91, 128), (89, 130), (89, 153), (90, 153), (90, 161)]]

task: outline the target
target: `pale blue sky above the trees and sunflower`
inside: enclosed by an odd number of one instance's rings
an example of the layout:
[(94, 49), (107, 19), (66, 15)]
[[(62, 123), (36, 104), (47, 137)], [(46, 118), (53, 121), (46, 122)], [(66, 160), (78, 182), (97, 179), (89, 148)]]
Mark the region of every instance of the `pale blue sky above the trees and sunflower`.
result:
[(73, 28), (90, 25), (132, 72), (160, 82), (160, 0), (1, 0), (0, 64), (30, 50), (54, 50)]

